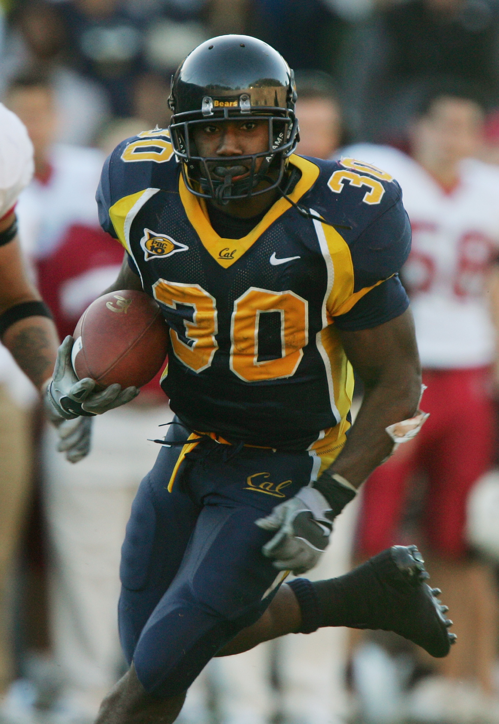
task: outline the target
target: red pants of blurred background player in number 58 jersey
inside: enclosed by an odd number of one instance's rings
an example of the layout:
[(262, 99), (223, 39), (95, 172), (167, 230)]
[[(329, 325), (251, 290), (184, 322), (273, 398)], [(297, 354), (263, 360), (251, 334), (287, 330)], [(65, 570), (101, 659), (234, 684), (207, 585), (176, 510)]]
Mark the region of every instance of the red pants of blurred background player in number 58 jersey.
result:
[(492, 464), (495, 411), (490, 369), (427, 370), (421, 407), (430, 416), (411, 442), (398, 447), (364, 484), (357, 550), (372, 556), (397, 540), (411, 475), (427, 474), (423, 530), (442, 557), (466, 553), (466, 501)]

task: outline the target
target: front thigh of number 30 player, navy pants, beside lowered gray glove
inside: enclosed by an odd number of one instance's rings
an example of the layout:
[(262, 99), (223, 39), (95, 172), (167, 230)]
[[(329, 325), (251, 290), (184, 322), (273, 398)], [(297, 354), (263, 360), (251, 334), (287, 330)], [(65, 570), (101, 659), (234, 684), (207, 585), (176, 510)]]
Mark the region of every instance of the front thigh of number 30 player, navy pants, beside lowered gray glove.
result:
[(261, 552), (261, 510), (207, 505), (180, 571), (143, 628), (135, 670), (143, 686), (175, 696), (242, 628), (258, 620), (281, 578)]

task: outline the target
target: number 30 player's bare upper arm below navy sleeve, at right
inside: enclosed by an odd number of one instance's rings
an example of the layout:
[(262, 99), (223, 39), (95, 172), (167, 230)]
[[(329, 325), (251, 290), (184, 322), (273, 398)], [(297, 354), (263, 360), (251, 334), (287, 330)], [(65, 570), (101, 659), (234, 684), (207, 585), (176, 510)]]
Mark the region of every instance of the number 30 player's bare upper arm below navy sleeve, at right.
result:
[(421, 374), (411, 309), (370, 329), (339, 330), (353, 369), (366, 387), (375, 384), (412, 384)]

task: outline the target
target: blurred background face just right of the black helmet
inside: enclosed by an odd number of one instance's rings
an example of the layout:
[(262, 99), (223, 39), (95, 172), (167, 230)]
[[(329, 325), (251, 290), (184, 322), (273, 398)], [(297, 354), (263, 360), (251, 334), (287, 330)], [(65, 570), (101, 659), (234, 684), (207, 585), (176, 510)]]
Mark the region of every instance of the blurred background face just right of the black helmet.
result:
[(300, 122), (298, 153), (329, 159), (340, 146), (340, 109), (327, 98), (303, 98), (296, 101), (296, 116)]

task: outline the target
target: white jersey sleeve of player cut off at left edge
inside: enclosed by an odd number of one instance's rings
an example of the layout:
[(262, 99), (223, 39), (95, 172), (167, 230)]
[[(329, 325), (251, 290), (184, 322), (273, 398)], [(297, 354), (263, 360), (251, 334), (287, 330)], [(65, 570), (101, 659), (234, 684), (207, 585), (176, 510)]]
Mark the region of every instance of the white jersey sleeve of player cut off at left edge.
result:
[(33, 146), (20, 119), (0, 103), (0, 219), (33, 177)]

